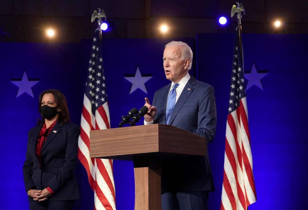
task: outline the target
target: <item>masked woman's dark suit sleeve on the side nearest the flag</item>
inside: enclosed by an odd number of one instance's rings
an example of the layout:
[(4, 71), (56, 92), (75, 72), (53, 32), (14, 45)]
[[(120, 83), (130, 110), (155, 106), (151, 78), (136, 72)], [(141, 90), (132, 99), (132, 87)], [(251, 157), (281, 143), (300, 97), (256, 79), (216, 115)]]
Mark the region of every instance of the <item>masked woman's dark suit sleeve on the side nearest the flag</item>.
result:
[(67, 134), (65, 162), (63, 167), (61, 167), (59, 173), (47, 183), (47, 186), (50, 187), (53, 192), (57, 192), (66, 181), (71, 178), (77, 164), (80, 128), (78, 126), (74, 126), (73, 128)]

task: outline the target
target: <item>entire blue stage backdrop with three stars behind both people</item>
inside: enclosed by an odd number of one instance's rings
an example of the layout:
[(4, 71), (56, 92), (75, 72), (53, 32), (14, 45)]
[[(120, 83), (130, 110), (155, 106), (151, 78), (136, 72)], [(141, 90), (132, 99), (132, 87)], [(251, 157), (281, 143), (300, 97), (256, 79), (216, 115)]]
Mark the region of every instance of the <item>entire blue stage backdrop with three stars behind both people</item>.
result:
[[(253, 173), (257, 190), (254, 209), (303, 209), (308, 190), (307, 35), (243, 35), (244, 64)], [(213, 85), (217, 132), (209, 144), (215, 192), (209, 209), (219, 209), (229, 100), (233, 34), (200, 34), (187, 42), (194, 51), (192, 74)], [(162, 55), (166, 39), (108, 39), (103, 41), (111, 127), (132, 107), (152, 102), (156, 89), (168, 84)], [(195, 47), (194, 47), (195, 46)], [(71, 121), (80, 125), (91, 40), (66, 43), (0, 43), (2, 102), (1, 209), (27, 209), (22, 180), (28, 130), (35, 126), (38, 96), (59, 89), (67, 97)], [(141, 125), (139, 122), (138, 125)], [(93, 195), (83, 166), (75, 170), (81, 199), (74, 209), (93, 209)], [(114, 161), (116, 207), (134, 208), (132, 162)], [(13, 202), (12, 200), (18, 200)]]

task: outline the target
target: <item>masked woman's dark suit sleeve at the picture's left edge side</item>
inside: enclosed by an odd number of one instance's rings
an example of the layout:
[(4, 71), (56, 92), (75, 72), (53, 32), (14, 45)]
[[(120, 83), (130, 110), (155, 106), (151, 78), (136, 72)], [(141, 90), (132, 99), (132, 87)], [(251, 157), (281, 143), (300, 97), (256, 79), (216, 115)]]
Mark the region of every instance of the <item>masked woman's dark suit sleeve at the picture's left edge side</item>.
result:
[(23, 181), (25, 183), (26, 191), (28, 191), (31, 187), (34, 187), (34, 183), (32, 181), (32, 169), (33, 169), (33, 160), (29, 154), (29, 142), (30, 142), (30, 130), (28, 133), (28, 143), (26, 150), (26, 161), (23, 163), (22, 173), (23, 173)]

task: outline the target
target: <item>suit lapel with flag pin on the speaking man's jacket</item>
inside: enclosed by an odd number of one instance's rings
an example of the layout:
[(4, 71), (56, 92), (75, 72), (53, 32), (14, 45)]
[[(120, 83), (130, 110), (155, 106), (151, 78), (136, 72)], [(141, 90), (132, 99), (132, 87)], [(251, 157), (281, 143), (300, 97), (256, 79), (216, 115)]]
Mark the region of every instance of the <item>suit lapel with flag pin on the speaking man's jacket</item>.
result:
[(177, 113), (180, 111), (181, 107), (187, 100), (188, 96), (193, 92), (195, 84), (196, 84), (196, 79), (193, 78), (193, 76), (190, 76), (190, 79), (186, 83), (179, 99), (176, 101), (176, 104), (174, 105), (174, 108), (170, 116), (169, 125), (172, 124), (174, 118), (176, 117)]

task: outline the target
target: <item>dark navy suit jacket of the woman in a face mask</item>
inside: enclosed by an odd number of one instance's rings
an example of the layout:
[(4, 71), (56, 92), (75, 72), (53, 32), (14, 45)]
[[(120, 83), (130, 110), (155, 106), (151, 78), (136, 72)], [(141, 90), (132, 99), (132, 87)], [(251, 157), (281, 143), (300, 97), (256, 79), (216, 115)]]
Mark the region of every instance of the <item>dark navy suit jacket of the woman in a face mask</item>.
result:
[[(79, 198), (74, 169), (78, 159), (79, 126), (59, 121), (46, 138), (41, 150), (41, 168), (35, 154), (36, 142), (43, 122), (29, 130), (23, 179), (26, 191), (33, 187), (42, 190), (47, 186), (54, 192), (48, 200), (75, 200)], [(29, 201), (33, 201), (29, 197)]]

